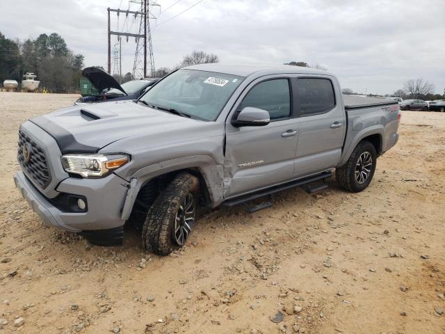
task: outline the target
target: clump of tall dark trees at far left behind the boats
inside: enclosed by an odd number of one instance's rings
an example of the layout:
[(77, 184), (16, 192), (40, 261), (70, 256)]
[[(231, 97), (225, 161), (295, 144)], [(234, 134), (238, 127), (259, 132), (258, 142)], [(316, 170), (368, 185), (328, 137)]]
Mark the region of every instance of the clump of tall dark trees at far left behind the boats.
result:
[(38, 74), (40, 88), (66, 93), (79, 88), (85, 57), (68, 49), (58, 33), (42, 33), (35, 40), (11, 40), (0, 33), (0, 82), (22, 81), (23, 74)]

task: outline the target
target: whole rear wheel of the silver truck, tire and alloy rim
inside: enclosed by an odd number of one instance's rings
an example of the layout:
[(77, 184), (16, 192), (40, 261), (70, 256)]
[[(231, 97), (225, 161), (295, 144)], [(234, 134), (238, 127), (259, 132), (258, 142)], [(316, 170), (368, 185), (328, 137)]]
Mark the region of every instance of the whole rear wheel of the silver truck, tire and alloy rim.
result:
[(369, 141), (360, 142), (346, 164), (336, 168), (335, 179), (341, 189), (358, 193), (366, 189), (373, 179), (377, 152)]

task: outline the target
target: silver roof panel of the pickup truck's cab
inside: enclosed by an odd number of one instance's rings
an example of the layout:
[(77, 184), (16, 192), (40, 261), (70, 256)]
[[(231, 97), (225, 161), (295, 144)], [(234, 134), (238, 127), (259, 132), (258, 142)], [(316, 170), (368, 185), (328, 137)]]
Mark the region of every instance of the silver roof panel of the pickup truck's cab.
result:
[(249, 77), (252, 74), (286, 74), (286, 73), (305, 73), (305, 74), (324, 74), (332, 75), (323, 70), (316, 70), (312, 67), (301, 67), (294, 65), (270, 65), (270, 64), (200, 64), (184, 67), (187, 70), (202, 70), (208, 72), (217, 72), (237, 75), (238, 77)]

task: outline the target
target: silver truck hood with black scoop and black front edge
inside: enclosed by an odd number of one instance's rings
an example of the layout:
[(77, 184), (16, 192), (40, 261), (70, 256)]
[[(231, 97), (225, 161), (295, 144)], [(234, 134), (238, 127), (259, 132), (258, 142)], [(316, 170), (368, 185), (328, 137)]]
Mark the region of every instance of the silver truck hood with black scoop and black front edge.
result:
[(216, 122), (184, 118), (133, 101), (72, 106), (30, 121), (53, 136), (63, 154), (97, 152), (115, 141), (147, 134), (150, 142), (140, 145), (154, 147), (202, 136), (204, 129), (211, 133), (218, 127)]

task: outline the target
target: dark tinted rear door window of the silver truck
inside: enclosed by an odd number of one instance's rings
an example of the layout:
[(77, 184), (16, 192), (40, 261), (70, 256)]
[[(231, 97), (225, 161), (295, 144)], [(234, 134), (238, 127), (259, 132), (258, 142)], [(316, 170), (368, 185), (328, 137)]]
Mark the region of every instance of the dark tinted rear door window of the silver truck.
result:
[(299, 78), (301, 116), (326, 113), (335, 106), (334, 87), (329, 79)]

